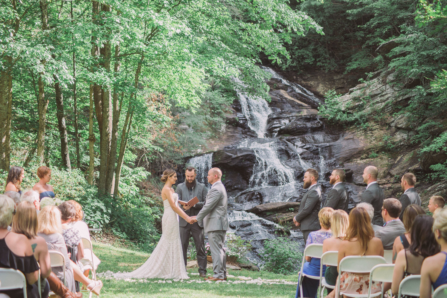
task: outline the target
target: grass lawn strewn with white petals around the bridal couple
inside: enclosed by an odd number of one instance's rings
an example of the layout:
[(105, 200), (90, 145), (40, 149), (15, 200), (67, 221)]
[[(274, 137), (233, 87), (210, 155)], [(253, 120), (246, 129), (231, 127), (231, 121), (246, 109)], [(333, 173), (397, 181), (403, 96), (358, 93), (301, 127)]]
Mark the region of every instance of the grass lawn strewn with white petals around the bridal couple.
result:
[[(141, 266), (149, 254), (110, 244), (93, 243), (95, 254), (101, 260), (97, 272), (132, 271)], [(249, 271), (246, 269), (228, 269), (226, 282), (203, 281), (198, 277), (197, 269), (188, 269), (190, 279), (184, 281), (162, 281), (159, 279), (114, 280), (100, 279), (104, 283), (101, 290), (103, 298), (144, 297), (144, 298), (224, 298), (224, 297), (295, 297), (297, 275), (281, 275), (266, 271)], [(208, 275), (212, 270), (208, 269)], [(84, 293), (84, 297), (88, 295)], [(93, 297), (95, 295), (93, 294)]]

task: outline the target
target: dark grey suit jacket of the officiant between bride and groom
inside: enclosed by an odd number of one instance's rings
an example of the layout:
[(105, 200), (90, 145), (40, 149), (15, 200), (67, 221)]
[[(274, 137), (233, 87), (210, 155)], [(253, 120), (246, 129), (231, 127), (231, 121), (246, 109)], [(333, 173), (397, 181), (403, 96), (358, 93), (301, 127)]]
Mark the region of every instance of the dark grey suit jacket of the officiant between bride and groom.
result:
[[(196, 181), (196, 185), (193, 187), (192, 194), (190, 195), (190, 191), (185, 185), (185, 182), (179, 184), (175, 192), (178, 194), (178, 199), (181, 201), (189, 201), (193, 197), (198, 198), (198, 203), (191, 207), (189, 210), (183, 210), (188, 216), (195, 216), (202, 210), (203, 205), (205, 204), (205, 198), (208, 194), (207, 187), (198, 181)], [(183, 206), (180, 206), (183, 209)], [(178, 217), (178, 224), (180, 227), (186, 227), (188, 222), (185, 219)], [(200, 227), (203, 227), (203, 222), (198, 222)]]

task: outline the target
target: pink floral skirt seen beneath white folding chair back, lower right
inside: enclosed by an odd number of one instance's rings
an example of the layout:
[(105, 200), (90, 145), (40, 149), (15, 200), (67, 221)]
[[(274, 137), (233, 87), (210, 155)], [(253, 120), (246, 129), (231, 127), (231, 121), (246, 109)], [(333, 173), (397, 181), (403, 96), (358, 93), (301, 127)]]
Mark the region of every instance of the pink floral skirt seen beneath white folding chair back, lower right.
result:
[[(340, 292), (350, 294), (368, 294), (369, 274), (357, 275), (350, 272), (342, 272), (340, 277)], [(382, 290), (382, 285), (378, 281), (372, 281), (371, 293)]]

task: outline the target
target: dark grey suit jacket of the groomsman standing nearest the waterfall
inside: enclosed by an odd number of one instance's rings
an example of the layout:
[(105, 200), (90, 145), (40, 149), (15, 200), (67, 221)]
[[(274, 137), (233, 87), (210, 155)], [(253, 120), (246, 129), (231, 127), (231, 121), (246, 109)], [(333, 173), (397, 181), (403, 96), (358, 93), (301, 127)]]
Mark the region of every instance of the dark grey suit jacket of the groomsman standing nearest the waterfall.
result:
[(318, 219), (320, 205), (321, 190), (318, 185), (315, 185), (304, 194), (299, 203), (298, 214), (295, 215), (295, 220), (300, 223), (301, 231), (320, 230), (320, 220)]

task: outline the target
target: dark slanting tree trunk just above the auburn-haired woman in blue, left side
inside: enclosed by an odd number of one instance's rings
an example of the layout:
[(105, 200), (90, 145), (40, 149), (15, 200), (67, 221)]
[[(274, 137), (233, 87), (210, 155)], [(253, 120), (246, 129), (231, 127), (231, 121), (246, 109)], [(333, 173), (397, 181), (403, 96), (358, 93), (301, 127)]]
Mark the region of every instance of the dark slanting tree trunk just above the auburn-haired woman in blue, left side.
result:
[(59, 126), (60, 137), (60, 155), (62, 157), (62, 165), (66, 168), (71, 168), (70, 155), (68, 154), (68, 138), (67, 138), (67, 125), (65, 124), (65, 115), (63, 114), (63, 95), (60, 84), (55, 79), (55, 95), (56, 95), (56, 117)]

